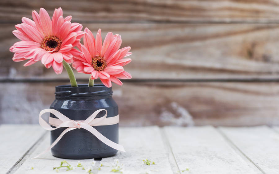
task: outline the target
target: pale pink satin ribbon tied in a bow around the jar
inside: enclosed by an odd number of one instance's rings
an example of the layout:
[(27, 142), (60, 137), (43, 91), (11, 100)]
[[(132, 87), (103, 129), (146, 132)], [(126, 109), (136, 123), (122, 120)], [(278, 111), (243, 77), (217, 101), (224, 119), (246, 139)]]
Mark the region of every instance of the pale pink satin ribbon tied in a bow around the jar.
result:
[[(103, 117), (100, 118), (95, 118), (97, 116), (97, 114), (101, 111), (106, 111), (106, 114)], [(53, 126), (57, 126), (56, 128), (52, 128), (44, 119), (42, 119), (42, 114), (46, 113), (46, 112), (50, 112), (53, 115), (55, 115), (57, 118), (51, 118), (49, 120), (49, 123)], [(91, 114), (91, 116), (89, 116), (86, 120), (84, 121), (75, 121), (75, 120), (71, 120), (68, 117), (64, 116), (62, 113), (58, 112), (55, 109), (44, 109), (40, 112), (39, 114), (39, 123), (40, 125), (47, 130), (55, 130), (61, 127), (67, 127), (67, 129), (65, 129), (60, 135), (59, 137), (51, 144), (51, 146), (49, 146), (45, 151), (43, 151), (42, 153), (40, 153), (39, 155), (37, 155), (34, 158), (38, 158), (40, 155), (48, 152), (49, 150), (51, 150), (51, 148), (53, 146), (55, 146), (55, 144), (57, 142), (59, 142), (59, 140), (69, 131), (74, 130), (74, 129), (86, 129), (89, 132), (91, 132), (91, 134), (95, 135), (96, 138), (98, 138), (100, 141), (102, 141), (103, 143), (105, 143), (106, 145), (112, 147), (113, 149), (116, 149), (118, 151), (123, 151), (124, 147), (120, 144), (117, 144), (111, 140), (109, 140), (108, 138), (106, 138), (104, 135), (102, 135), (100, 132), (98, 132), (95, 128), (93, 128), (92, 126), (100, 126), (100, 125), (114, 125), (117, 124), (119, 122), (119, 115), (114, 116), (114, 117), (107, 117), (107, 110), (105, 109), (99, 109), (97, 111), (95, 111), (94, 113)]]

